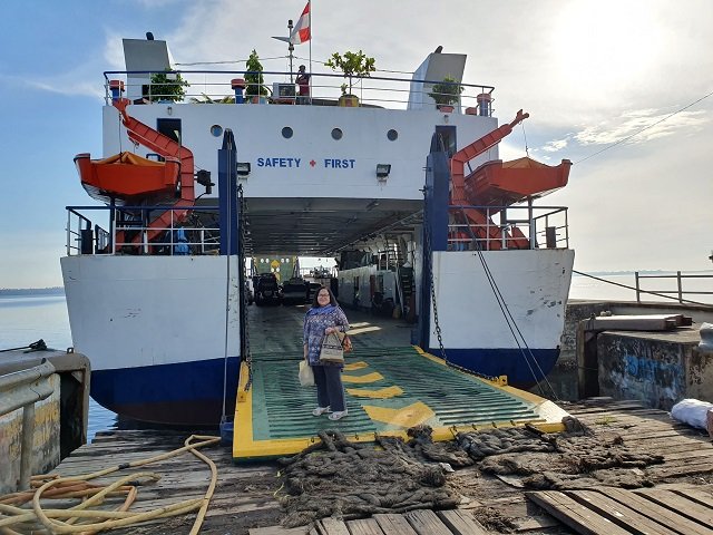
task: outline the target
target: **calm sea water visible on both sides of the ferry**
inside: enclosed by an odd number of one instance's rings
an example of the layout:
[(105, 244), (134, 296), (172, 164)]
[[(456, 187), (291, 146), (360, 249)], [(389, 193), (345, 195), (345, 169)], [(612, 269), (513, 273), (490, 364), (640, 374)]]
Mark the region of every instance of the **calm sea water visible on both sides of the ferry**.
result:
[[(709, 274), (713, 275), (713, 272)], [(634, 286), (635, 283), (633, 273), (602, 275), (602, 278), (626, 286)], [(662, 286), (662, 281), (645, 282), (646, 285), (643, 288), (652, 290), (674, 290), (676, 288), (675, 280), (667, 280), (665, 286)], [(713, 279), (686, 280), (684, 290), (713, 291)], [(636, 294), (631, 289), (575, 275), (572, 278), (569, 298), (634, 301)], [(655, 295), (643, 299), (646, 301), (670, 301)], [(713, 295), (687, 295), (687, 299), (713, 304)], [(65, 296), (41, 293), (22, 296), (0, 295), (0, 350), (27, 347), (39, 339), (45, 340), (47, 347), (52, 349), (61, 350), (71, 347)], [(89, 401), (88, 440), (91, 440), (97, 431), (116, 429), (118, 426), (131, 427), (138, 426), (138, 424), (119, 422), (117, 415), (94, 400)]]

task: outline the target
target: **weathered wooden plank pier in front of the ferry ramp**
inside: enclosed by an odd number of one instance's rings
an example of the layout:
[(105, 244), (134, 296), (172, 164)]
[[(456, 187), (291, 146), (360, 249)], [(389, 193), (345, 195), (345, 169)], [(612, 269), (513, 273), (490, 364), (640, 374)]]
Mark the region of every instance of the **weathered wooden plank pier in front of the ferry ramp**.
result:
[[(672, 420), (666, 412), (637, 402), (590, 399), (564, 408), (595, 434), (618, 435), (629, 449), (664, 455), (664, 463), (638, 470), (653, 484), (622, 489), (600, 485), (587, 489), (531, 490), (517, 478), (481, 473), (479, 464), (449, 476), (462, 496), (451, 510), (420, 509), (370, 518), (323, 518), (311, 526), (280, 527), (284, 512), (277, 502), (275, 463), (234, 465), (227, 447), (201, 451), (215, 463), (217, 485), (199, 533), (212, 535), (465, 535), (465, 534), (629, 534), (713, 535), (713, 444), (697, 429)], [(180, 448), (177, 431), (105, 431), (77, 449), (55, 473), (94, 473)], [(189, 453), (141, 467), (160, 475), (138, 487), (131, 512), (148, 512), (203, 498), (211, 483), (208, 466)], [(124, 475), (125, 471), (119, 471)], [(96, 484), (116, 479), (97, 478)], [(105, 505), (110, 506), (111, 499)], [(116, 503), (115, 503), (116, 504)], [(55, 505), (47, 505), (55, 507)], [(0, 519), (2, 516), (0, 515)], [(188, 534), (196, 513), (133, 525), (113, 533)]]

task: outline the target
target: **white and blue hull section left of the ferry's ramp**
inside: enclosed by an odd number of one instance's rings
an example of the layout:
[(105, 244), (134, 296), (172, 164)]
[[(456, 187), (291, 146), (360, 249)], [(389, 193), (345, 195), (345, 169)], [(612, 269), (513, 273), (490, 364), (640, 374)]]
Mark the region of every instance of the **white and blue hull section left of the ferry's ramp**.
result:
[(78, 255), (61, 266), (95, 400), (154, 422), (216, 425), (224, 399), (231, 414), (241, 341), (235, 256)]

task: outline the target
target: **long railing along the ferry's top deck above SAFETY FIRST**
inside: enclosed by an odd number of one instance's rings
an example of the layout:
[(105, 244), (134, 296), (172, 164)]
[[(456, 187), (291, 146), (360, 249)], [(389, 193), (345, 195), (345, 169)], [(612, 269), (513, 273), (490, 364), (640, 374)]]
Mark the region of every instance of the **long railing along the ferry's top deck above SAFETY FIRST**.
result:
[[(167, 75), (174, 81), (152, 82), (155, 75)], [(250, 71), (244, 70), (109, 70), (104, 72), (105, 101), (109, 105), (113, 98), (127, 97), (135, 104), (236, 104), (236, 90), (233, 80), (245, 79)], [(343, 95), (342, 86), (346, 79), (334, 72), (312, 72), (310, 80), (311, 95), (301, 98), (294, 81), (296, 72), (263, 70), (264, 82), (261, 84), (265, 95), (243, 95), (245, 104), (307, 104), (312, 106), (336, 106)], [(178, 78), (179, 77), (179, 78)], [(162, 77), (163, 78), (163, 77)], [(120, 84), (116, 84), (116, 80)], [(182, 86), (182, 96), (175, 91), (178, 80), (188, 82)], [(434, 85), (443, 85), (443, 80), (398, 78), (391, 76), (353, 77), (351, 91), (359, 98), (361, 107), (393, 109), (436, 109), (437, 105), (429, 95)], [(448, 82), (446, 82), (448, 85)], [(447, 113), (465, 113), (490, 117), (494, 111), (494, 86), (484, 84), (452, 84), (461, 93), (452, 110)], [(250, 84), (247, 85), (250, 86)], [(238, 93), (246, 93), (247, 87)], [(257, 93), (252, 91), (252, 93)], [(240, 100), (240, 98), (237, 98)], [(448, 108), (442, 108), (448, 109)]]

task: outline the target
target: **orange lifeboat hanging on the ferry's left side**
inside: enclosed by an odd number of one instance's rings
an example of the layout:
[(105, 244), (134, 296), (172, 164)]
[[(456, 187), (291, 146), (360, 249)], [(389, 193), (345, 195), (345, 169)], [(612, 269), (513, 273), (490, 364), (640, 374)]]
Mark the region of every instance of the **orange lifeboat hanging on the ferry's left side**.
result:
[(87, 193), (106, 203), (118, 205), (150, 201), (175, 201), (180, 176), (180, 163), (166, 157), (165, 162), (120, 153), (105, 159), (90, 159), (89, 154), (75, 156), (81, 185)]

